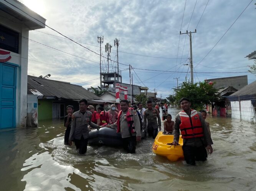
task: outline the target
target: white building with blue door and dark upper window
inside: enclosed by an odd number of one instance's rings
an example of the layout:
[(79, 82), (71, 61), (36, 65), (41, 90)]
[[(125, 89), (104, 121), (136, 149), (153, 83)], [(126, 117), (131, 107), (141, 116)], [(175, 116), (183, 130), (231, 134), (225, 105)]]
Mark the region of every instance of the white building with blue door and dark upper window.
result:
[(0, 129), (26, 125), (28, 34), (45, 21), (17, 0), (0, 0)]

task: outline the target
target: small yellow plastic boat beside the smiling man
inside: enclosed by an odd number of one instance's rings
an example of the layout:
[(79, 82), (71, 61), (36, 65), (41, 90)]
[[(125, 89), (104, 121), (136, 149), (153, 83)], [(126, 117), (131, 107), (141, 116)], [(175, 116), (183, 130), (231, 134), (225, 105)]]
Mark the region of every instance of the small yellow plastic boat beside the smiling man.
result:
[(155, 138), (155, 141), (152, 146), (152, 151), (157, 155), (167, 157), (167, 159), (170, 161), (177, 161), (178, 159), (183, 159), (183, 139), (181, 138), (181, 135), (179, 139), (180, 145), (174, 146), (170, 145), (170, 143), (173, 142), (173, 135), (167, 135), (163, 133), (163, 131), (160, 131), (157, 134), (157, 137)]

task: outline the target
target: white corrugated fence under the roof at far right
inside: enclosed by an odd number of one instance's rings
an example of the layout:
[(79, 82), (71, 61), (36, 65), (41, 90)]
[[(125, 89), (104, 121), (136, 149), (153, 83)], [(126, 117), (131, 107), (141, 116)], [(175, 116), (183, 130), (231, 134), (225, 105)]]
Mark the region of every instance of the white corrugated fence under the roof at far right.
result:
[(256, 94), (226, 97), (227, 117), (256, 123)]

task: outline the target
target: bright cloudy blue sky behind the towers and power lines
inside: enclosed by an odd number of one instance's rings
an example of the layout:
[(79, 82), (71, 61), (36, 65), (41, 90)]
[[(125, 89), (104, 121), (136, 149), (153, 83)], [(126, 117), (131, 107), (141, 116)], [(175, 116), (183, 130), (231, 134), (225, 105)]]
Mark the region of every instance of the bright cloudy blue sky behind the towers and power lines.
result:
[[(114, 61), (114, 39), (120, 39), (123, 83), (129, 83), (130, 64), (134, 84), (151, 92), (156, 89), (159, 97), (173, 94), (174, 78), (179, 84), (186, 76), (190, 79), (189, 36), (180, 31), (197, 29), (192, 34), (194, 82), (241, 75), (248, 75), (248, 83), (256, 80), (246, 73), (253, 61), (244, 58), (256, 50), (255, 0), (20, 1), (46, 18), (48, 26), (94, 52), (99, 53), (97, 36), (104, 36), (103, 46), (107, 42), (113, 46)], [(48, 27), (31, 31), (30, 39), (28, 74), (51, 74), (50, 79), (85, 88), (99, 85), (99, 55)], [(109, 65), (111, 70), (116, 63)]]

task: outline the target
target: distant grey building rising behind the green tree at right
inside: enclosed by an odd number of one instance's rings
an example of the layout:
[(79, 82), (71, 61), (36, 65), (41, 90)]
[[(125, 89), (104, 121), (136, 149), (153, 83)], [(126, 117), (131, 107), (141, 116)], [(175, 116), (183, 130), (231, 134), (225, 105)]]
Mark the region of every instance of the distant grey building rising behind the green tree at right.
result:
[(233, 77), (226, 77), (226, 78), (206, 79), (205, 81), (207, 81), (208, 83), (210, 82), (215, 83), (213, 87), (215, 87), (216, 89), (222, 89), (228, 86), (232, 86), (235, 89), (239, 90), (248, 84), (247, 75), (233, 76)]

